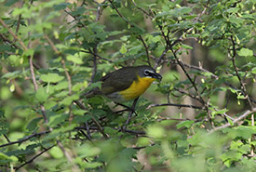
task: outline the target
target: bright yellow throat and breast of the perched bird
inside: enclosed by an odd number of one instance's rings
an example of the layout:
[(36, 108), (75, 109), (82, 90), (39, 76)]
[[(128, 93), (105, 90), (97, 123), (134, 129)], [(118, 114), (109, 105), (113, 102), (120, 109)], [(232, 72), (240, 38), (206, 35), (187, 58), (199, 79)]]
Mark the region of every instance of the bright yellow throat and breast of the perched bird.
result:
[(148, 78), (148, 77), (140, 77), (138, 76), (138, 80), (134, 81), (128, 89), (124, 91), (120, 91), (119, 94), (122, 95), (123, 99), (130, 100), (136, 99), (145, 90), (155, 81), (155, 78)]

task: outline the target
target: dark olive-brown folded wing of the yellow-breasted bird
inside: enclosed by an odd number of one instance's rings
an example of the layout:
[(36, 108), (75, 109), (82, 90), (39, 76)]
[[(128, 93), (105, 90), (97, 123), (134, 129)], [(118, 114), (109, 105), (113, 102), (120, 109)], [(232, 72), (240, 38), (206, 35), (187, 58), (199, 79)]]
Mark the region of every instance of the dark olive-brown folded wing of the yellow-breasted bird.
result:
[(118, 70), (113, 73), (108, 73), (101, 78), (101, 92), (108, 95), (117, 91), (127, 89), (133, 81), (137, 80), (137, 75), (134, 70)]

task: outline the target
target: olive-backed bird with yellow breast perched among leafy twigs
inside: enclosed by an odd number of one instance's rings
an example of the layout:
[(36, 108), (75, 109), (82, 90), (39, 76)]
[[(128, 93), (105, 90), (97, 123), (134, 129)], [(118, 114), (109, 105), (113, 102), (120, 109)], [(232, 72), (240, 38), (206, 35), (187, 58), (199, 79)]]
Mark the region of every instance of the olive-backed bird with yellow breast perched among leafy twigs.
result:
[(116, 103), (137, 99), (162, 76), (148, 65), (123, 67), (101, 78), (101, 88), (97, 87), (85, 94), (86, 98), (102, 95)]

